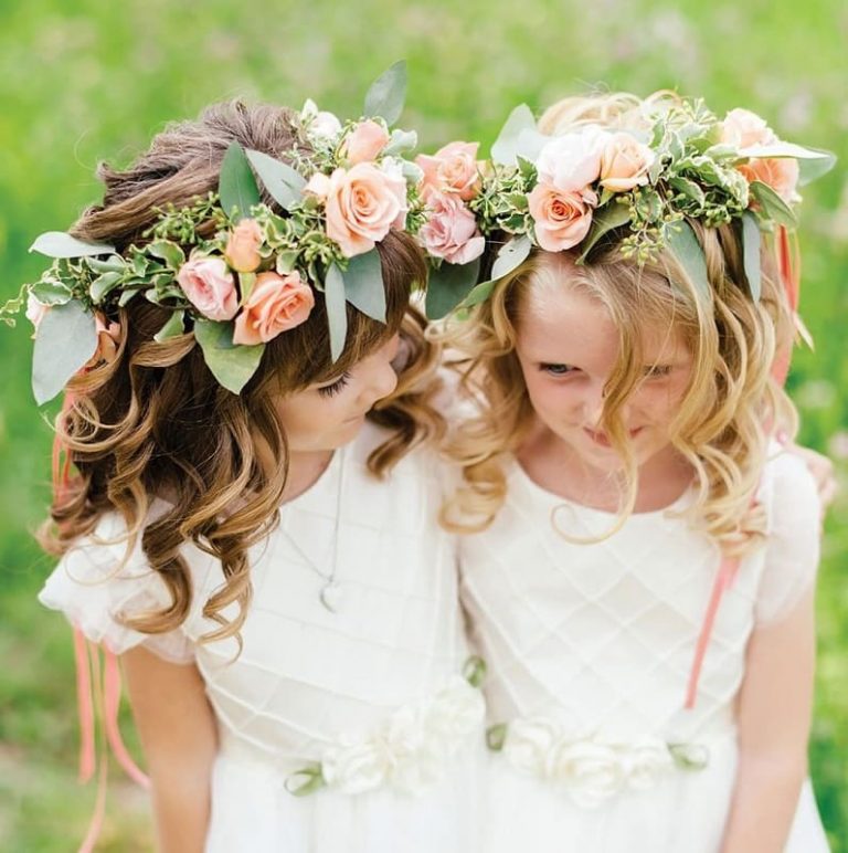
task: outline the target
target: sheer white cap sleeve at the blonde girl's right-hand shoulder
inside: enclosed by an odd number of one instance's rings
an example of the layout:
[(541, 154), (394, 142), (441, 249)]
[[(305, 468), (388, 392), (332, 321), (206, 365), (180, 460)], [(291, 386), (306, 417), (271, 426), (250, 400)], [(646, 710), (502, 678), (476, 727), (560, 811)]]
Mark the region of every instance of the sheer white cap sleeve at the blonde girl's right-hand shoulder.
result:
[(767, 463), (761, 499), (768, 510), (765, 565), (757, 589), (757, 624), (787, 617), (813, 587), (820, 554), (820, 502), (803, 460), (780, 452)]

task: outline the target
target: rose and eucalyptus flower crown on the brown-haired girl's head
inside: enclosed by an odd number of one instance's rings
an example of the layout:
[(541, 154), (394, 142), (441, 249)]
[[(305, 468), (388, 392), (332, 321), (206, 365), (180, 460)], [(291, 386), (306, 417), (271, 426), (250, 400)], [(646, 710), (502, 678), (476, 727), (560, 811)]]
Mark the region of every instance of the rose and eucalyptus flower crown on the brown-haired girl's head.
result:
[[(25, 303), (35, 326), (38, 403), (115, 357), (117, 309), (135, 298), (170, 310), (157, 341), (193, 331), (209, 369), (234, 393), (267, 341), (307, 319), (316, 289), (325, 295), (333, 361), (344, 348), (346, 302), (385, 323), (375, 244), (391, 230), (416, 233), (423, 218), (421, 170), (403, 158), (416, 135), (389, 130), (405, 89), (399, 62), (369, 89), (365, 118), (344, 125), (307, 101), (299, 119), (311, 151), (293, 149), (290, 165), (232, 143), (218, 192), (158, 211), (142, 245), (118, 252), (63, 232), (38, 238), (30, 251), (52, 265), (0, 307), (0, 319), (13, 325)], [(262, 202), (259, 183), (284, 215)], [(210, 222), (215, 231), (206, 238)]]

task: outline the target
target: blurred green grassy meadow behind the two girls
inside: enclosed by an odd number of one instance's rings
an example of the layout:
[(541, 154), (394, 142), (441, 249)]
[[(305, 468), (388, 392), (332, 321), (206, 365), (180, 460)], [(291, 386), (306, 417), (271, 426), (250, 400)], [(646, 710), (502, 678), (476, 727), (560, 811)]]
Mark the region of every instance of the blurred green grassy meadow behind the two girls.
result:
[[(676, 88), (720, 114), (748, 106), (782, 137), (840, 156), (805, 191), (802, 306), (816, 351), (796, 356), (789, 385), (803, 442), (830, 453), (845, 480), (846, 43), (842, 0), (0, 0), (0, 297), (40, 273), (26, 253), (36, 234), (99, 199), (98, 160), (127, 164), (167, 120), (213, 101), (299, 107), (309, 96), (352, 115), (405, 57), (401, 125), (418, 129), (425, 150), (456, 138), (487, 149), (522, 101), (539, 112), (596, 84)], [(28, 336), (26, 323), (0, 336), (0, 849), (59, 853), (83, 838), (94, 790), (75, 781), (70, 633), (35, 602), (51, 560), (28, 531), (47, 503), (51, 435), (29, 390)], [(833, 849), (848, 852), (846, 491), (826, 525), (810, 765)], [(115, 782), (98, 850), (151, 849), (144, 793)]]

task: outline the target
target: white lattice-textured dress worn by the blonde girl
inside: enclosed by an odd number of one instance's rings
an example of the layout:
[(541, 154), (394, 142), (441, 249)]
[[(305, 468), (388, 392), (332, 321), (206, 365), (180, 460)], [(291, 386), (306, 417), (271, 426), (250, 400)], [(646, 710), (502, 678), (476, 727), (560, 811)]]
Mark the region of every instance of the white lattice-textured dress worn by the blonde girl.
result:
[[(759, 497), (767, 547), (724, 593), (685, 710), (716, 546), (662, 510), (632, 516), (600, 544), (569, 543), (552, 510), (581, 537), (607, 530), (614, 515), (544, 491), (510, 460), (506, 505), (460, 545), (462, 598), (498, 726), (489, 739), (500, 747), (487, 773), (487, 853), (719, 850), (749, 635), (792, 609), (818, 558), (818, 498), (803, 463), (770, 461)], [(786, 850), (827, 850), (808, 783)]]

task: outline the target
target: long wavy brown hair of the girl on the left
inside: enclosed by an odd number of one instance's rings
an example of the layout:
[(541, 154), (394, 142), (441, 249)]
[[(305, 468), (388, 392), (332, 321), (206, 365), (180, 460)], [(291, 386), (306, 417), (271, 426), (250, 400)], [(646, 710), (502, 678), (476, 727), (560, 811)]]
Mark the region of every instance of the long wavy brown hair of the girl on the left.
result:
[[(129, 168), (100, 166), (103, 203), (86, 210), (71, 233), (108, 241), (118, 251), (141, 245), (157, 209), (188, 206), (216, 190), (233, 140), (279, 159), (293, 148), (308, 150), (297, 115), (287, 108), (240, 101), (212, 106), (198, 120), (168, 126)], [(263, 201), (285, 214), (267, 194)], [(209, 230), (214, 230), (211, 222)], [(225, 578), (204, 603), (204, 615), (220, 625), (204, 640), (239, 634), (252, 593), (247, 548), (277, 523), (287, 478), (280, 396), (337, 378), (400, 331), (406, 364), (395, 392), (370, 415), (389, 428), (389, 435), (369, 467), (383, 475), (413, 444), (441, 433), (441, 419), (428, 402), (437, 356), (410, 307), (411, 291), (426, 276), (421, 251), (398, 232), (390, 232), (378, 251), (386, 323), (348, 305), (347, 343), (335, 362), (319, 292), (308, 319), (266, 345), (240, 394), (216, 382), (192, 333), (157, 343), (153, 336), (168, 312), (137, 298), (113, 318), (123, 329), (116, 359), (68, 383), (56, 431), (74, 474), (57, 489), (39, 539), (47, 551), (62, 555), (93, 534), (105, 514), (118, 513), (126, 524), (127, 557), (140, 537), (171, 597), (161, 611), (127, 618), (131, 628), (162, 633), (186, 619), (192, 585), (180, 549), (190, 541), (221, 561)], [(222, 610), (233, 602), (237, 614), (227, 620)]]

